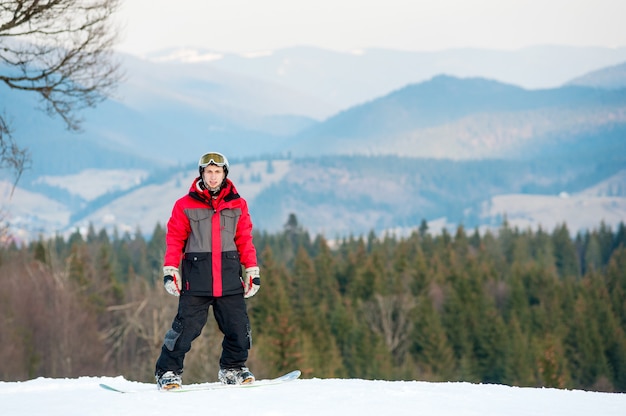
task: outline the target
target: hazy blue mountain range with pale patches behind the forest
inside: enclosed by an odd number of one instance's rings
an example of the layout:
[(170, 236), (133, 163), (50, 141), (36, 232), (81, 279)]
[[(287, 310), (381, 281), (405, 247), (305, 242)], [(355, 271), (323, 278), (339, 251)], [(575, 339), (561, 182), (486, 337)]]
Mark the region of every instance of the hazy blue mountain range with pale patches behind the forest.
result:
[(80, 134), (0, 90), (33, 160), (13, 197), (6, 172), (0, 189), (21, 238), (150, 233), (207, 150), (231, 158), (267, 231), (290, 213), (331, 237), (626, 219), (626, 48), (120, 59), (125, 82)]

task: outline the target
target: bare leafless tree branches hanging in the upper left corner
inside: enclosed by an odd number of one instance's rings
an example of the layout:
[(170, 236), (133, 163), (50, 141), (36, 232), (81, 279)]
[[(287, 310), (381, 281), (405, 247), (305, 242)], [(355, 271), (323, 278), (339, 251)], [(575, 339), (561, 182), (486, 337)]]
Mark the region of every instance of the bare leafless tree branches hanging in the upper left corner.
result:
[[(121, 79), (112, 47), (120, 0), (2, 0), (0, 82), (39, 95), (49, 115), (79, 130), (78, 113), (109, 96)], [(21, 176), (28, 152), (0, 116), (0, 168)]]

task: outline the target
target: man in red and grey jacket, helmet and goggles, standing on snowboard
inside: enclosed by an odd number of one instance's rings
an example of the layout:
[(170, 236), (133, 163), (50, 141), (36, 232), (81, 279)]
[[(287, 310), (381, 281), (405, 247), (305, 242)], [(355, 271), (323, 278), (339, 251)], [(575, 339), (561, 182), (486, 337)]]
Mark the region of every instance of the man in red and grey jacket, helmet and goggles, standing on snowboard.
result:
[(163, 282), (179, 303), (156, 363), (157, 386), (164, 390), (182, 386), (185, 354), (206, 324), (210, 306), (224, 335), (218, 379), (254, 382), (246, 367), (252, 340), (245, 299), (259, 290), (261, 279), (248, 204), (227, 179), (224, 155), (204, 154), (198, 170), (200, 176), (176, 201), (167, 223)]

